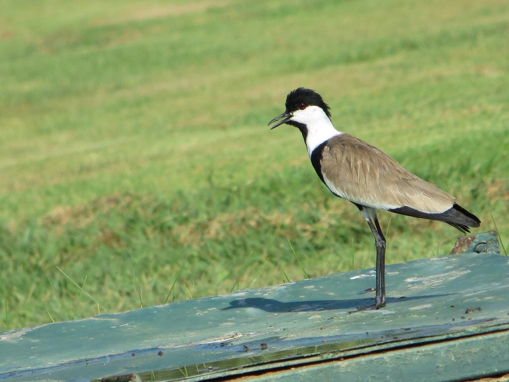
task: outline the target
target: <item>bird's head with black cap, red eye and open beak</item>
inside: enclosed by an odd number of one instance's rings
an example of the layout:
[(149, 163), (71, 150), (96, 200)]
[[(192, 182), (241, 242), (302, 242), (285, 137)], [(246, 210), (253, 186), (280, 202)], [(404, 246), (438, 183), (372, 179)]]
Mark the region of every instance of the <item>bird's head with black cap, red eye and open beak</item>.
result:
[(330, 120), (329, 106), (323, 101), (322, 96), (311, 89), (297, 88), (292, 90), (285, 103), (286, 110), (272, 121), (277, 122), (270, 129), (279, 125), (287, 124), (298, 127), (301, 131), (314, 122), (320, 122), (324, 118)]

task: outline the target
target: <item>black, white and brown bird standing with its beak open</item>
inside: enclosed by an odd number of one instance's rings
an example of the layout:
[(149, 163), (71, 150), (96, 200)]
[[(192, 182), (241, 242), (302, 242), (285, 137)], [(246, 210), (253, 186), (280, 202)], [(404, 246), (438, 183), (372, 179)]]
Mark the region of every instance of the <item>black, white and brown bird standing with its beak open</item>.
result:
[(479, 227), (479, 219), (437, 186), (404, 169), (397, 161), (353, 135), (338, 131), (330, 107), (316, 91), (292, 90), (284, 113), (272, 119), (271, 130), (287, 124), (300, 130), (309, 159), (319, 178), (336, 197), (360, 210), (375, 238), (375, 303), (358, 310), (385, 306), (386, 239), (377, 210), (445, 222), (463, 233)]

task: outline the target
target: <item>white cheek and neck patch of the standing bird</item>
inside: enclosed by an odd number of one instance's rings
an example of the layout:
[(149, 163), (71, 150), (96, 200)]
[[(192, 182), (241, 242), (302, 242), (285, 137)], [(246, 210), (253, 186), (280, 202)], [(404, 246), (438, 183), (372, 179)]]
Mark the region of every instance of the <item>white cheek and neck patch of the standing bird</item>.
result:
[(343, 134), (334, 128), (327, 114), (319, 106), (307, 106), (304, 110), (295, 111), (292, 120), (303, 123), (307, 127), (306, 147), (309, 157), (322, 143)]

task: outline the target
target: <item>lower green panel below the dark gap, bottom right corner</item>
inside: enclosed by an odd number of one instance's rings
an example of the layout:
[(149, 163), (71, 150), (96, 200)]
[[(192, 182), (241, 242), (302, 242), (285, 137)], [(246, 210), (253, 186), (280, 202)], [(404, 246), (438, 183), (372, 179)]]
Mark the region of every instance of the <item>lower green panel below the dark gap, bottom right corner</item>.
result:
[(257, 380), (430, 381), (500, 375), (507, 372), (509, 364), (507, 341), (507, 331), (495, 332), (392, 352), (373, 352), (351, 359), (317, 362), (298, 369), (267, 373)]

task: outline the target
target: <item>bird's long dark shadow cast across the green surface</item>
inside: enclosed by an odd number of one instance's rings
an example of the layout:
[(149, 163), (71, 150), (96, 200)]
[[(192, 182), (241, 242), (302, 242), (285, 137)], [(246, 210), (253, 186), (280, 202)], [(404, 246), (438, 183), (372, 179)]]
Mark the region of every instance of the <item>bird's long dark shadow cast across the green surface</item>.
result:
[[(415, 301), (433, 297), (448, 296), (447, 294), (433, 294), (413, 297), (387, 297), (386, 304), (392, 305), (401, 302)], [(335, 299), (335, 300), (308, 300), (308, 301), (290, 301), (287, 303), (277, 301), (272, 298), (248, 297), (238, 298), (230, 302), (230, 306), (221, 310), (256, 308), (265, 312), (283, 313), (283, 312), (312, 312), (324, 310), (352, 310), (359, 307), (369, 306), (374, 303), (373, 298), (353, 298), (353, 299)]]

